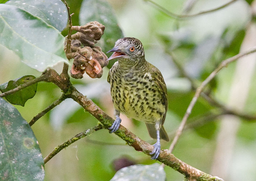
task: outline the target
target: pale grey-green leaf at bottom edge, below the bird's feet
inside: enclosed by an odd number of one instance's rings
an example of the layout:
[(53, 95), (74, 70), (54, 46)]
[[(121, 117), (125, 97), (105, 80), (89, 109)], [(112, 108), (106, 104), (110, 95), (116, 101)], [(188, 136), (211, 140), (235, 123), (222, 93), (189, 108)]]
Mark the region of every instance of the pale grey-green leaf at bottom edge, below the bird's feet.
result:
[(151, 165), (132, 165), (125, 167), (116, 172), (115, 176), (110, 181), (165, 181), (165, 172), (160, 164), (154, 163)]

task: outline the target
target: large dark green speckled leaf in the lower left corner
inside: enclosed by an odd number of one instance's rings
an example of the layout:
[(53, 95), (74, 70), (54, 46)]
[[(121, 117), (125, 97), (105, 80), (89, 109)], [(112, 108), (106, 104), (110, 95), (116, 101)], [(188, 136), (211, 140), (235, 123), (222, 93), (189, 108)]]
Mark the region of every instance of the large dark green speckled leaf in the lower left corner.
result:
[(1, 180), (44, 180), (44, 162), (37, 139), (15, 107), (0, 98)]

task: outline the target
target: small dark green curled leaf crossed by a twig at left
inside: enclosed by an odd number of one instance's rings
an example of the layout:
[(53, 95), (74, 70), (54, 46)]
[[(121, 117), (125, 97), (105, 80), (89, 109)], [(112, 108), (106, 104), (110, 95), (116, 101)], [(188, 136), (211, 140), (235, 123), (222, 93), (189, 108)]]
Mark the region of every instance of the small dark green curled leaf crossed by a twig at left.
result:
[[(15, 80), (5, 82), (0, 85), (0, 91), (1, 92), (10, 91), (11, 89), (14, 89), (26, 82), (29, 82), (34, 78), (36, 77), (33, 75), (25, 75), (20, 78), (16, 78)], [(12, 104), (24, 106), (28, 99), (31, 99), (34, 97), (36, 92), (37, 92), (37, 83), (31, 86), (28, 86), (24, 89), (21, 89), (20, 91), (13, 93), (11, 95), (7, 95), (5, 98), (7, 101), (9, 101)]]

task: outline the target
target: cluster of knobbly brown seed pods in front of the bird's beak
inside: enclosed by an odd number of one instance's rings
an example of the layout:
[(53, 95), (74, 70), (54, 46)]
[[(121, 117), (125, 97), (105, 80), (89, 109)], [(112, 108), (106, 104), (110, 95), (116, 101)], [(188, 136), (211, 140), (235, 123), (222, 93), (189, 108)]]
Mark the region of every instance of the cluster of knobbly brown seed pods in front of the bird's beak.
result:
[[(102, 76), (104, 66), (108, 65), (108, 57), (98, 46), (94, 46), (104, 34), (105, 27), (97, 21), (89, 22), (83, 26), (73, 26), (78, 31), (71, 35), (71, 57), (74, 58), (70, 70), (73, 78), (82, 78), (86, 72), (92, 78)], [(84, 47), (81, 47), (81, 46)], [(66, 46), (66, 41), (64, 43)]]

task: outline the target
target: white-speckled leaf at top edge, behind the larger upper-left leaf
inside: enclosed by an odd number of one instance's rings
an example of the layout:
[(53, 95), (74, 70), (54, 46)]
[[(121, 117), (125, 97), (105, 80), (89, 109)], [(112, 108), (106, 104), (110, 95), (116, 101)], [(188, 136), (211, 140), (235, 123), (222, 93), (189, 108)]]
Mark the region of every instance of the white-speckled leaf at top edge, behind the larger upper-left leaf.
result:
[(6, 4), (20, 7), (34, 16), (42, 18), (59, 31), (67, 26), (67, 8), (61, 0), (10, 0)]

